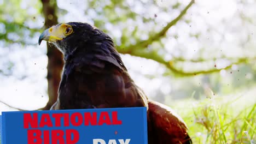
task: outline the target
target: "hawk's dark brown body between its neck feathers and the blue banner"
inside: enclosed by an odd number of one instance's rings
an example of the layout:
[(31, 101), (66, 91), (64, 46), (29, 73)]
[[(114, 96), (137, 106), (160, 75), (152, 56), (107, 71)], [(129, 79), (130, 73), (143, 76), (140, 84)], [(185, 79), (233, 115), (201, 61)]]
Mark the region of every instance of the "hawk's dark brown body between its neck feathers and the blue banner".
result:
[(59, 88), (60, 106), (56, 106), (61, 109), (147, 106), (147, 100), (127, 71), (103, 58), (86, 57), (82, 53), (72, 62), (66, 62)]

